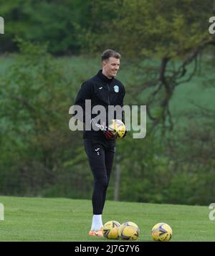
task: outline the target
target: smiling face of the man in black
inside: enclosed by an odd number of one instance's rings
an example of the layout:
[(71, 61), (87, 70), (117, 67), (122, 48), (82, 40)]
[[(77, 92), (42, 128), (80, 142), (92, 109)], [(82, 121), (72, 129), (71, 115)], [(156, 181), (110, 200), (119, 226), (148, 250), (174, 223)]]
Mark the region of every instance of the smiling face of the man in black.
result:
[(115, 77), (120, 68), (120, 59), (116, 59), (115, 57), (110, 57), (109, 60), (104, 60), (102, 62), (104, 75), (107, 77)]

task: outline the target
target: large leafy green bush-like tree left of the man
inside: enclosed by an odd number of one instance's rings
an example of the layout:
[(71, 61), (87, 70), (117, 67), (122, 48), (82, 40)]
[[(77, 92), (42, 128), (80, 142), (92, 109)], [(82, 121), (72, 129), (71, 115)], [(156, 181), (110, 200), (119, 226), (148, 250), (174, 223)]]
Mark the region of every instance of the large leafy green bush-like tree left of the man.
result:
[(65, 163), (83, 153), (81, 134), (70, 133), (68, 111), (80, 82), (73, 82), (46, 45), (18, 42), (21, 54), (0, 82), (1, 192), (40, 194), (65, 181), (72, 191), (77, 175), (71, 169), (78, 168)]

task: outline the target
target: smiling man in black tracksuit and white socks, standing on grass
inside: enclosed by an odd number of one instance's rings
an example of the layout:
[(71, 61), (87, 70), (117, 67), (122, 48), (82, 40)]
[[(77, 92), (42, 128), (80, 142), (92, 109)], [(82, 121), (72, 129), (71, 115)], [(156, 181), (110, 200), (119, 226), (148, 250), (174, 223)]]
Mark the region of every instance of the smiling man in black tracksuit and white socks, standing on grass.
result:
[[(119, 67), (120, 54), (108, 49), (102, 53), (102, 70), (82, 84), (77, 94), (75, 105), (82, 107), (84, 113), (82, 121), (85, 126), (87, 125), (86, 120), (91, 120), (90, 124), (93, 128), (93, 124), (95, 124), (93, 118), (96, 116), (85, 117), (85, 100), (91, 100), (91, 109), (95, 105), (104, 106), (107, 117), (108, 105), (120, 105), (123, 107), (125, 88), (119, 80), (115, 79)], [(93, 217), (92, 227), (89, 232), (90, 236), (102, 236), (102, 210), (105, 205), (106, 191), (115, 154), (115, 135), (108, 131), (108, 118), (102, 124), (105, 127), (104, 129), (100, 128), (99, 131), (91, 129), (91, 131), (84, 131), (83, 135), (85, 151), (94, 176)]]

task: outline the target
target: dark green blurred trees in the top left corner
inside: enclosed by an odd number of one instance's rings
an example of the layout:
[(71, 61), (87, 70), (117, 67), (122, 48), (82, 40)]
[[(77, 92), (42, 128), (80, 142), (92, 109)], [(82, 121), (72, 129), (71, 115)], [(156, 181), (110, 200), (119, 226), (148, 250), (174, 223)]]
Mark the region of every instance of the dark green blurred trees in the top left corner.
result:
[(90, 26), (91, 1), (0, 0), (6, 32), (0, 40), (0, 52), (15, 52), (15, 37), (40, 44), (49, 43), (52, 54), (80, 52), (80, 29)]

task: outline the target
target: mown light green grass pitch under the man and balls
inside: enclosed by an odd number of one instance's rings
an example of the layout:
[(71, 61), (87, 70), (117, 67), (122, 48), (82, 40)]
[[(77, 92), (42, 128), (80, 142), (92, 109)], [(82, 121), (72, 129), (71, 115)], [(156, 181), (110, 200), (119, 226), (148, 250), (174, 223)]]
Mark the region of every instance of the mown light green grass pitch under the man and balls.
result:
[[(0, 241), (116, 241), (88, 237), (90, 200), (0, 196), (4, 220)], [(111, 202), (105, 204), (103, 223), (132, 221), (140, 227), (138, 242), (152, 241), (151, 228), (166, 222), (173, 229), (171, 241), (215, 241), (215, 221), (209, 208), (173, 204)]]

